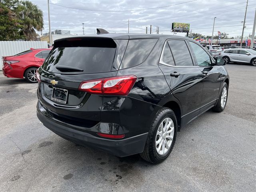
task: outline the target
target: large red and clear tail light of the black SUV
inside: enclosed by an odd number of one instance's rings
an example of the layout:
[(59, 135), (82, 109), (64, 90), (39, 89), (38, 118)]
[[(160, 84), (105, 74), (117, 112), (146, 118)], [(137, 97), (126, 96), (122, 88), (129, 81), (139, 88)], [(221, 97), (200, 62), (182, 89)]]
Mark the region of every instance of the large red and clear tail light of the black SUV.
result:
[(134, 75), (127, 75), (89, 80), (81, 82), (78, 90), (91, 94), (126, 96), (132, 89), (136, 79), (137, 77)]

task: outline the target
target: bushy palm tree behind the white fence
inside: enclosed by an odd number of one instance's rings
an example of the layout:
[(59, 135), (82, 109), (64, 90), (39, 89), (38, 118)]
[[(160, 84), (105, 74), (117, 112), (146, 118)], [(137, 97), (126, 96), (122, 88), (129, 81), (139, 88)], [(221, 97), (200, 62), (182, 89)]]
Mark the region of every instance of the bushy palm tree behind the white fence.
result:
[(44, 29), (42, 10), (30, 1), (22, 1), (18, 10), (23, 25), (22, 33), (25, 35), (26, 40), (35, 40), (36, 30), (42, 31)]

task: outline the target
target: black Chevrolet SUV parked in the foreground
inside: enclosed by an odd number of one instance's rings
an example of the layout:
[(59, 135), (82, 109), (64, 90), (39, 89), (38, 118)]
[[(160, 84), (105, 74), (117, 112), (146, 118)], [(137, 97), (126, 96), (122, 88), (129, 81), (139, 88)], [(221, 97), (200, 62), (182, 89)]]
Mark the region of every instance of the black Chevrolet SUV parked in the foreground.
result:
[(56, 40), (36, 73), (37, 116), (74, 143), (162, 162), (180, 128), (210, 108), (224, 110), (224, 64), (185, 37), (96, 34)]

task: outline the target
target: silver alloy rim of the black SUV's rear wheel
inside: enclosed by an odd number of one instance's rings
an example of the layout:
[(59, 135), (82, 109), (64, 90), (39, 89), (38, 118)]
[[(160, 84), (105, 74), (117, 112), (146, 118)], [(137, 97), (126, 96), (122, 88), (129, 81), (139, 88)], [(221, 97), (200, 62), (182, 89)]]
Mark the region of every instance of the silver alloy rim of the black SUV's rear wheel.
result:
[(174, 123), (171, 118), (165, 118), (158, 126), (156, 133), (156, 152), (164, 155), (168, 152), (174, 137)]

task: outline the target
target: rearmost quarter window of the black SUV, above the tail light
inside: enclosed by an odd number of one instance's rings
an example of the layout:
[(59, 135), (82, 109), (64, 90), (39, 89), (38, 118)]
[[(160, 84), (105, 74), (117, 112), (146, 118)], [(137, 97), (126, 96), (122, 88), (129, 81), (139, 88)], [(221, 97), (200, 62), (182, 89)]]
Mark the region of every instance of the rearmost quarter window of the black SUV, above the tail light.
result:
[(128, 42), (120, 69), (133, 67), (143, 63), (158, 39), (131, 39)]

